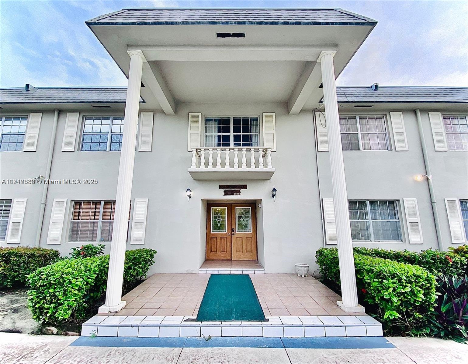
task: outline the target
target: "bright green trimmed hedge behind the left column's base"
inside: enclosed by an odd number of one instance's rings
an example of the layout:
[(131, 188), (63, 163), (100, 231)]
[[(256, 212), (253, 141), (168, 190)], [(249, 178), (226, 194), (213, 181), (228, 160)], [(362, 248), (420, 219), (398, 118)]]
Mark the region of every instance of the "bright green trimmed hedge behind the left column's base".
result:
[[(125, 253), (124, 287), (146, 277), (152, 249)], [(33, 318), (50, 323), (81, 322), (105, 293), (109, 255), (64, 259), (29, 275), (28, 303)]]

